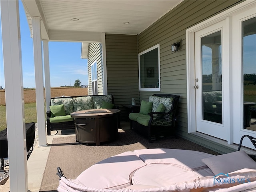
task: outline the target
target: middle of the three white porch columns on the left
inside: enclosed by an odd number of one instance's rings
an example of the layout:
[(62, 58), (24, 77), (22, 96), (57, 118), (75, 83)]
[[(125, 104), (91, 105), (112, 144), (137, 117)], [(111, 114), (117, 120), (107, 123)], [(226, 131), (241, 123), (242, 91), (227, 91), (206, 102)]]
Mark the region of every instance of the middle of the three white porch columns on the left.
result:
[(43, 78), (43, 62), (42, 62), (42, 40), (40, 17), (32, 16), (33, 30), (33, 49), (34, 49), (34, 65), (36, 78), (36, 112), (38, 123), (38, 145), (47, 146), (46, 143), (46, 126), (44, 112), (44, 78)]

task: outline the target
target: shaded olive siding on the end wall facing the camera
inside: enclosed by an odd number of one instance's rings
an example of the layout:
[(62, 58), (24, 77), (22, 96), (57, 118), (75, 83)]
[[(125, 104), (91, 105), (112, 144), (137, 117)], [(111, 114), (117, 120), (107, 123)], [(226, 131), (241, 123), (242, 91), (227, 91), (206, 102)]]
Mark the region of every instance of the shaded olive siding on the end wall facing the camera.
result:
[(136, 35), (106, 34), (108, 94), (114, 96), (125, 118), (122, 104), (138, 101), (138, 41)]

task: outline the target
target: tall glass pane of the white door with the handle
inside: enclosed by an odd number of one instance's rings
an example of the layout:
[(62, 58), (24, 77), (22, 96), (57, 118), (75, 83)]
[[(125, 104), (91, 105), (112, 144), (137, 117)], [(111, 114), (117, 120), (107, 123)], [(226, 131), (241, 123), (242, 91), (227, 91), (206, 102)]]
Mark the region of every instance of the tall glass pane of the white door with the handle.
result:
[(222, 123), (221, 31), (201, 40), (203, 119)]

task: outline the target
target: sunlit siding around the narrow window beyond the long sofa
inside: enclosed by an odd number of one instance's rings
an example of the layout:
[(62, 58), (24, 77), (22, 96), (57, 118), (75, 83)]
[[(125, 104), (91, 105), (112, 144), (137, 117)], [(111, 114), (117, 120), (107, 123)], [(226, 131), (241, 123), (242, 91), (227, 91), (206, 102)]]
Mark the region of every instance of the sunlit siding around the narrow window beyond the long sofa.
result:
[(88, 79), (89, 95), (92, 95), (92, 72), (91, 65), (97, 60), (98, 95), (103, 95), (103, 66), (102, 66), (102, 44), (89, 43), (88, 45)]

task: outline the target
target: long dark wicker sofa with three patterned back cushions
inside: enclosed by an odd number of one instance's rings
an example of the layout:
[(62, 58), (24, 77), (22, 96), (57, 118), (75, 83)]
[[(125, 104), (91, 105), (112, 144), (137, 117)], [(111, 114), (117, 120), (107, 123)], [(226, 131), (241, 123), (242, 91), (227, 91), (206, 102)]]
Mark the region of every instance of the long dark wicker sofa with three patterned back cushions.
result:
[(74, 118), (70, 113), (97, 108), (118, 108), (118, 106), (114, 105), (114, 97), (111, 94), (51, 98), (50, 110), (46, 112), (47, 135), (50, 135), (52, 130), (74, 129)]

